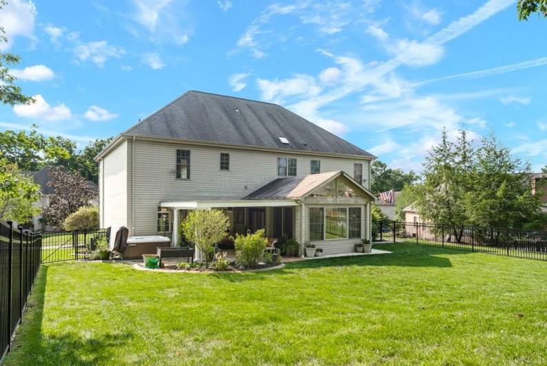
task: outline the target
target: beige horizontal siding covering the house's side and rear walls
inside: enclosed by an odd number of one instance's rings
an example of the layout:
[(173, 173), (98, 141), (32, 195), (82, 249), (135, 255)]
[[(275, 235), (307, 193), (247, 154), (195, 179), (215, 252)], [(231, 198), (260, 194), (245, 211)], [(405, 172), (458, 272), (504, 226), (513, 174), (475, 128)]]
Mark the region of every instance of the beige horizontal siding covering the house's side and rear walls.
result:
[[(351, 176), (353, 164), (361, 163), (364, 185), (370, 185), (369, 162), (365, 159), (212, 148), (137, 138), (132, 161), (132, 143), (132, 140), (121, 142), (103, 157), (104, 180), (101, 178), (100, 181), (105, 184), (101, 203), (103, 200), (107, 202), (104, 204), (104, 220), (101, 220), (103, 227), (121, 222), (130, 228), (131, 235), (156, 233), (157, 206), (161, 201), (239, 200), (245, 197), (278, 178), (277, 157), (296, 158), (298, 176), (310, 174), (310, 160), (321, 161), (321, 172), (342, 170)], [(177, 149), (190, 150), (190, 180), (177, 180), (175, 177)], [(230, 153), (230, 171), (220, 171), (220, 153)], [(131, 180), (132, 174), (135, 182)], [(134, 195), (131, 191), (133, 184)], [(135, 218), (132, 218), (133, 197)], [(133, 220), (135, 230), (132, 230)]]

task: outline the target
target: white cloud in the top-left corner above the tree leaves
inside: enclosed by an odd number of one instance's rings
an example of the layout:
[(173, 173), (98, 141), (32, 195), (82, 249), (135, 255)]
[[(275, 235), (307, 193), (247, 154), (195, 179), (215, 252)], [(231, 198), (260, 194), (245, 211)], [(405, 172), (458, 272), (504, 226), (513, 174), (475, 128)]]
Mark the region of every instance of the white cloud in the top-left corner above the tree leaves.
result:
[(30, 0), (10, 0), (0, 11), (0, 24), (6, 31), (8, 43), (2, 49), (7, 50), (16, 37), (26, 37), (34, 41), (34, 19), (36, 6)]

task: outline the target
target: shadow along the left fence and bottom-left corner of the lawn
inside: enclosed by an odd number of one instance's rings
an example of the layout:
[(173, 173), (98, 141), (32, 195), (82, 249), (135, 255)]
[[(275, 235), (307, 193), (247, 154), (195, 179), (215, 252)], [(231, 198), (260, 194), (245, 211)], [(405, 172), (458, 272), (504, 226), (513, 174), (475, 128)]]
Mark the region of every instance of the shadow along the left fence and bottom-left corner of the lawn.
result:
[(43, 305), (46, 300), (48, 266), (42, 265), (32, 294), (17, 330), (5, 365), (98, 365), (108, 364), (117, 346), (127, 343), (132, 334), (103, 334), (82, 337), (72, 332), (43, 334)]

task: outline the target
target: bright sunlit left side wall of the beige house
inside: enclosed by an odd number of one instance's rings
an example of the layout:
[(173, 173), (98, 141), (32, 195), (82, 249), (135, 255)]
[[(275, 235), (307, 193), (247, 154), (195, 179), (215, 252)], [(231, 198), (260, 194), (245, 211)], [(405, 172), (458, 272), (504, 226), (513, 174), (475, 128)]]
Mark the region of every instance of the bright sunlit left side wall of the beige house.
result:
[(102, 227), (128, 226), (128, 142), (116, 146), (101, 162)]

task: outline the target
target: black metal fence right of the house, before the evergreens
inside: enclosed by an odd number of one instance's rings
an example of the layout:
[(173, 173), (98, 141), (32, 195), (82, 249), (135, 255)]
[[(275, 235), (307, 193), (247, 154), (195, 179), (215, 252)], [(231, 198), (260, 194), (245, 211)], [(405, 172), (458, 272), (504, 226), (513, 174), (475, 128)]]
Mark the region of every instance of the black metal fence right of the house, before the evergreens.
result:
[(547, 260), (546, 230), (453, 227), (384, 220), (372, 222), (372, 238), (375, 241), (411, 242), (430, 247)]

